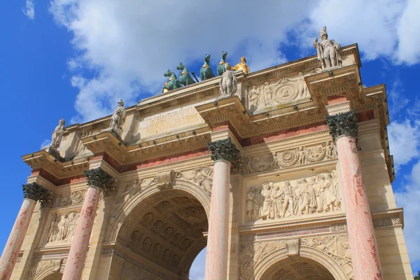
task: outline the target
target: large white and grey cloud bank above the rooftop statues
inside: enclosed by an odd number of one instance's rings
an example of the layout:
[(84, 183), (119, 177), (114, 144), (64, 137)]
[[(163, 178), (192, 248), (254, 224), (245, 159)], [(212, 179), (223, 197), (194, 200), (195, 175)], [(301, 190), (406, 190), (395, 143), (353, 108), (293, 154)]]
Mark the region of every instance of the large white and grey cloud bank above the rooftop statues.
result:
[[(409, 10), (416, 5), (415, 0), (217, 0), (205, 5), (193, 0), (52, 0), (50, 13), (73, 34), (69, 69), (87, 79), (77, 86), (74, 120), (81, 122), (111, 113), (120, 98), (131, 105), (141, 94), (160, 92), (166, 69), (176, 71), (179, 62), (191, 68), (206, 53), (213, 65), (222, 50), (228, 50), (233, 63), (244, 55), (252, 71), (285, 62), (282, 44), (314, 54), (312, 41), (323, 25), (342, 45), (358, 42), (365, 59), (412, 63), (420, 54), (418, 44), (413, 45), (420, 36), (414, 32), (420, 17)], [(295, 38), (287, 38), (290, 34)]]

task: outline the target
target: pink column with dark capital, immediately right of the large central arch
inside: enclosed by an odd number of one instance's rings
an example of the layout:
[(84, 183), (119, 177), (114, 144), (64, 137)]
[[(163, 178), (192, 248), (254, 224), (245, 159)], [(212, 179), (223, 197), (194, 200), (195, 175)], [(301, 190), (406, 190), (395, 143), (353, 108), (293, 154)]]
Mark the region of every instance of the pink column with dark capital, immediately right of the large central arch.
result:
[(209, 150), (214, 171), (204, 279), (225, 280), (228, 276), (230, 166), (237, 162), (239, 151), (230, 138), (210, 142)]

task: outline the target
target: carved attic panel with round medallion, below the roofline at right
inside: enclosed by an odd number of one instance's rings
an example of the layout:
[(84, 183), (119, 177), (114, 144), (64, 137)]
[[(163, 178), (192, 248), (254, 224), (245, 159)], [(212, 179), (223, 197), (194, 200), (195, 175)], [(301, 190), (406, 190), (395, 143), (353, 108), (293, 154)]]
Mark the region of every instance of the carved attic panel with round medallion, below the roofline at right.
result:
[(276, 83), (266, 81), (264, 85), (248, 88), (248, 111), (260, 111), (272, 106), (290, 104), (311, 99), (304, 77), (311, 73), (300, 72), (297, 76), (283, 77)]

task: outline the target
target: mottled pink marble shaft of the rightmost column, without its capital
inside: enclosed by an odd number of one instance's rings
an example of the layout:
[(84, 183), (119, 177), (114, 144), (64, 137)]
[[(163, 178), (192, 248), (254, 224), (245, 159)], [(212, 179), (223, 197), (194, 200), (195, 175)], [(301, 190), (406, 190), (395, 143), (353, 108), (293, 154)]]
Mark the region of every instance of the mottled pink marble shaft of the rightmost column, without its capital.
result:
[(372, 214), (363, 185), (356, 139), (341, 135), (336, 139), (339, 172), (346, 205), (351, 259), (355, 280), (381, 280)]

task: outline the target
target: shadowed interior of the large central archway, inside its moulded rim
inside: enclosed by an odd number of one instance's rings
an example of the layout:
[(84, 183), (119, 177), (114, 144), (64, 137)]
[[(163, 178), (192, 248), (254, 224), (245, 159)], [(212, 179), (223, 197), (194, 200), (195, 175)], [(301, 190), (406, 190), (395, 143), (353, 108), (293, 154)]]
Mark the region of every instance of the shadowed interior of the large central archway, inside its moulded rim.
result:
[(181, 186), (148, 193), (125, 217), (110, 274), (120, 279), (186, 279), (190, 267), (207, 246), (207, 211)]

